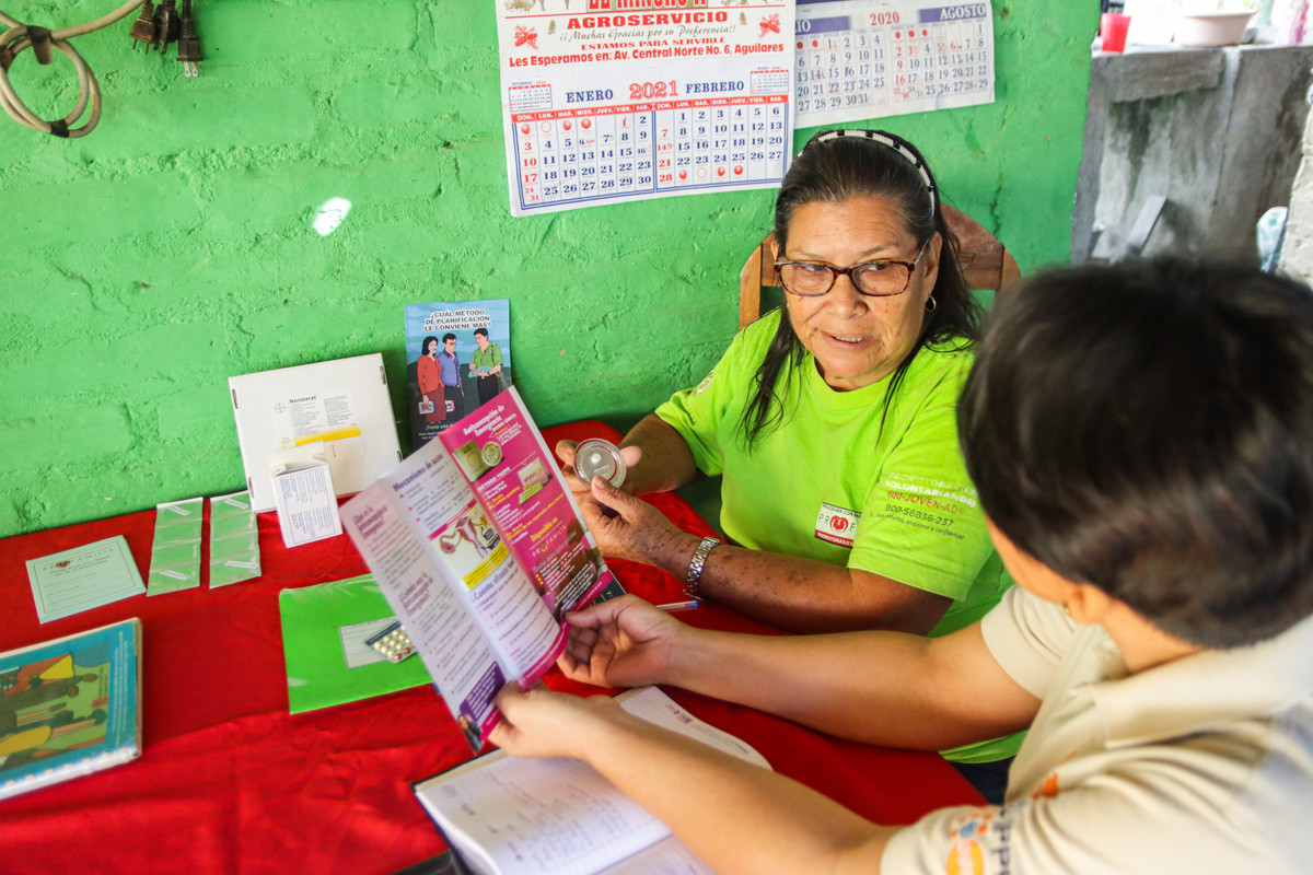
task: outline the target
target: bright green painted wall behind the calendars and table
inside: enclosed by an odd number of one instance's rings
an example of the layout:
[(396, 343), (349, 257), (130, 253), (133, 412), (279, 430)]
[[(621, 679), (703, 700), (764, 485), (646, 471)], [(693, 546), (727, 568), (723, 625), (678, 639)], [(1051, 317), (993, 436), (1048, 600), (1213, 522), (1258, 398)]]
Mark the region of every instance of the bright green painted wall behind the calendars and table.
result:
[[(130, 17), (75, 41), (95, 132), (0, 117), (0, 534), (240, 488), (231, 374), (382, 352), (402, 412), (408, 302), (511, 298), (542, 425), (702, 376), (772, 194), (512, 219), (494, 3), (196, 0), (200, 79), (133, 52)], [(58, 29), (113, 0), (4, 5)], [(1067, 253), (1096, 24), (1070, 5), (995, 0), (998, 102), (884, 122), (1023, 270)], [(76, 98), (55, 58), (9, 71), (43, 117)], [(320, 237), (330, 197), (355, 209)]]

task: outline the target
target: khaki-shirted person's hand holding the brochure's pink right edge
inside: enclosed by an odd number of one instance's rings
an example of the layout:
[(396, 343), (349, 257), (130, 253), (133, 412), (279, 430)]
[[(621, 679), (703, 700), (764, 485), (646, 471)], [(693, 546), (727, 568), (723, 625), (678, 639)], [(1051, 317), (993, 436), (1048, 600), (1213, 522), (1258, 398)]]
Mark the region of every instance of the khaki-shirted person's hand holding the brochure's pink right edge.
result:
[(570, 639), (557, 660), (566, 677), (597, 686), (642, 686), (670, 677), (670, 655), (689, 634), (674, 617), (637, 596), (566, 614)]

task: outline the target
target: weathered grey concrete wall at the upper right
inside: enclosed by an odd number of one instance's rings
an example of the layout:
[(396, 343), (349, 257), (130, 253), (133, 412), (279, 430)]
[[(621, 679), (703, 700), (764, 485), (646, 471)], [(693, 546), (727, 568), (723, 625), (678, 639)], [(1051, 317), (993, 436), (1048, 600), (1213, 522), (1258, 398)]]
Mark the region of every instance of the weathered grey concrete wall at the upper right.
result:
[(1255, 223), (1289, 203), (1313, 46), (1099, 54), (1071, 260), (1133, 249), (1141, 210), (1166, 206), (1142, 252), (1257, 260)]

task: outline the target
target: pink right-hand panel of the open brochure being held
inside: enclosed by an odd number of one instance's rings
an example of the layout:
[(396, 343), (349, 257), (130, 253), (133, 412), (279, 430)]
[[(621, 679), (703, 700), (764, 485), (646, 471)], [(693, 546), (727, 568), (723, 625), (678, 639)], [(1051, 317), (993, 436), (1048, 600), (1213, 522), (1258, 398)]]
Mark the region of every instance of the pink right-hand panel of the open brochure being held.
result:
[(513, 386), (439, 439), (558, 621), (612, 582), (555, 457)]

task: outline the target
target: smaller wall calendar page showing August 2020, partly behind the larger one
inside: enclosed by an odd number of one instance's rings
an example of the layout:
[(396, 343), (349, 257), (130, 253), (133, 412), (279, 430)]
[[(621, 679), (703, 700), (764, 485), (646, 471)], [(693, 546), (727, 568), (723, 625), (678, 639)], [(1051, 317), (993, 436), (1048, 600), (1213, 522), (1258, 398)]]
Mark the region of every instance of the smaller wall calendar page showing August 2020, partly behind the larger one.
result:
[(798, 0), (798, 127), (994, 102), (990, 3)]

